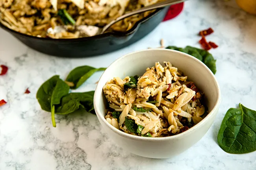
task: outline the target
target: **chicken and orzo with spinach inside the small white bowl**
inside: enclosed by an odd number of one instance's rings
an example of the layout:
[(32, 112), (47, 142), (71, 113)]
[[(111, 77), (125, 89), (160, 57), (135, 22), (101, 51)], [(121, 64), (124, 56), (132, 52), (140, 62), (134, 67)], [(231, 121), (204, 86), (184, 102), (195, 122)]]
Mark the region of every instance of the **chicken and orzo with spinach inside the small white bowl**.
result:
[(103, 92), (109, 103), (106, 120), (132, 135), (175, 135), (208, 114), (203, 93), (169, 62), (157, 62), (142, 76), (113, 78)]

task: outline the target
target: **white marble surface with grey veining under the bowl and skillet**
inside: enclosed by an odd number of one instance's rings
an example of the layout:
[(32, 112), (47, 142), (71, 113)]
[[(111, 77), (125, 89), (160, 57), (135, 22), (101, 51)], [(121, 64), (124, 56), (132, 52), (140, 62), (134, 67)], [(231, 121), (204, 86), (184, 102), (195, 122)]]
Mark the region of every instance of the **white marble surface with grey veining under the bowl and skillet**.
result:
[[(256, 17), (224, 0), (191, 0), (183, 13), (161, 23), (141, 41), (122, 50), (93, 58), (52, 57), (27, 48), (0, 30), (0, 64), (9, 67), (0, 77), (0, 170), (255, 170), (256, 152), (232, 155), (217, 144), (217, 132), (228, 108), (239, 102), (256, 110)], [(35, 94), (55, 74), (64, 78), (74, 67), (107, 67), (118, 57), (148, 47), (197, 46), (199, 30), (215, 30), (208, 40), (219, 48), (211, 50), (217, 59), (222, 101), (208, 133), (192, 148), (172, 159), (148, 159), (119, 148), (109, 139), (95, 115), (56, 116), (52, 127), (49, 113), (42, 111)], [(100, 73), (78, 89), (95, 89)], [(31, 93), (24, 94), (29, 87)], [(167, 148), (168, 149), (168, 148)], [(104, 168), (103, 168), (104, 167)]]

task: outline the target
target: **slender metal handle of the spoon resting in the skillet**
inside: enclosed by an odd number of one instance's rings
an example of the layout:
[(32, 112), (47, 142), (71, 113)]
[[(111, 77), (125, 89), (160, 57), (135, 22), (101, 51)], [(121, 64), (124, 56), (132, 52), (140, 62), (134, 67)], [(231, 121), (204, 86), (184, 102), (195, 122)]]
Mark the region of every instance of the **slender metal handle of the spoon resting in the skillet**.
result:
[(106, 26), (104, 26), (104, 28), (102, 29), (100, 34), (104, 33), (106, 30), (108, 30), (108, 28), (110, 26), (112, 26), (116, 22), (118, 22), (118, 21), (120, 21), (120, 20), (122, 20), (126, 17), (130, 17), (130, 16), (138, 14), (138, 13), (143, 13), (143, 12), (146, 12), (146, 11), (150, 11), (152, 9), (157, 9), (157, 8), (161, 8), (161, 7), (165, 7), (165, 6), (178, 4), (178, 3), (181, 3), (181, 2), (184, 2), (184, 1), (186, 1), (186, 0), (166, 0), (164, 2), (159, 2), (159, 3), (156, 3), (156, 4), (150, 5), (150, 6), (143, 7), (141, 9), (134, 10), (130, 13), (126, 13), (126, 14), (116, 18), (115, 20), (109, 22), (109, 24), (107, 24)]

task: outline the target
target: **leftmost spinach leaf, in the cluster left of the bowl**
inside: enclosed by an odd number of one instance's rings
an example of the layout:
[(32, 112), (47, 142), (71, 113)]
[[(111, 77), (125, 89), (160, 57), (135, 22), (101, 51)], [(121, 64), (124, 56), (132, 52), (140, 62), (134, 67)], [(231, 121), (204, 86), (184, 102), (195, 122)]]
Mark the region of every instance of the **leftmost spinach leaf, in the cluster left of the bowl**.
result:
[(45, 111), (51, 112), (52, 93), (58, 80), (58, 75), (52, 76), (50, 79), (46, 80), (45, 83), (43, 83), (37, 91), (36, 98), (41, 108)]

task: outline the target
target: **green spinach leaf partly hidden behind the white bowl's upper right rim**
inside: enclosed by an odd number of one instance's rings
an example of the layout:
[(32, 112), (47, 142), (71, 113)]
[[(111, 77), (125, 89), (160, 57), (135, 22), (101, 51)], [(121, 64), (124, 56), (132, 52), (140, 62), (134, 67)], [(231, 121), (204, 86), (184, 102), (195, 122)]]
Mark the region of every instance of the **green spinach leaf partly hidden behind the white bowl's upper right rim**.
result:
[(213, 56), (206, 50), (202, 50), (199, 48), (186, 46), (186, 48), (178, 48), (175, 46), (169, 46), (167, 47), (171, 50), (177, 50), (180, 52), (187, 53), (189, 55), (192, 55), (193, 57), (196, 57), (200, 61), (202, 61), (210, 70), (213, 72), (213, 74), (216, 73), (216, 60), (213, 58)]

